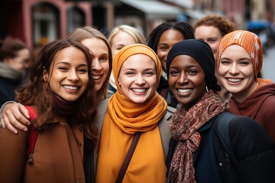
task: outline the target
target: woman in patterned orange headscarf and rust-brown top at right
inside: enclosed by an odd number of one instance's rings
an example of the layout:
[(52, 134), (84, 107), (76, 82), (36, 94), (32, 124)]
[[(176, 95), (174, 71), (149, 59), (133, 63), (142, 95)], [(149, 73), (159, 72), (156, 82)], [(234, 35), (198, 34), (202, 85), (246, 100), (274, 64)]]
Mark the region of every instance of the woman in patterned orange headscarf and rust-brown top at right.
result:
[(227, 34), (219, 42), (216, 60), (219, 79), (232, 94), (230, 111), (258, 121), (275, 143), (275, 84), (257, 78), (263, 62), (259, 37), (240, 30)]

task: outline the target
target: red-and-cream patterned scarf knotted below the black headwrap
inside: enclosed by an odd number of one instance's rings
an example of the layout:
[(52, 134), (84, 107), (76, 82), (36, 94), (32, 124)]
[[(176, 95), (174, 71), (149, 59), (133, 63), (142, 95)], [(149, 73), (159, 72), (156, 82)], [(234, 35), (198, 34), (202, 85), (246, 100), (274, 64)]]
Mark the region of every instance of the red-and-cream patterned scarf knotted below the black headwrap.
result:
[(193, 157), (201, 141), (198, 129), (227, 110), (228, 103), (212, 90), (206, 92), (190, 109), (180, 104), (170, 124), (170, 130), (178, 144), (166, 182), (196, 182)]

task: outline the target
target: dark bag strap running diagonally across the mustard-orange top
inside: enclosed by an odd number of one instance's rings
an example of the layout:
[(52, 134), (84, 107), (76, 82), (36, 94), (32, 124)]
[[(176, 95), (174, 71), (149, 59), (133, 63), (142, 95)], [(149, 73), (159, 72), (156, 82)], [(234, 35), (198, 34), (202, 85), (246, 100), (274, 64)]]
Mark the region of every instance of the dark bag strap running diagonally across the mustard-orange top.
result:
[(141, 137), (141, 132), (136, 132), (134, 134), (134, 137), (133, 137), (133, 140), (132, 140), (132, 143), (129, 147), (129, 150), (128, 150), (128, 153), (125, 157), (125, 160), (121, 166), (121, 169), (119, 171), (119, 174), (118, 174), (118, 177), (117, 177), (117, 180), (116, 180), (116, 183), (120, 183), (122, 182), (123, 178), (124, 178), (124, 175), (126, 173), (126, 170), (130, 164), (130, 161), (132, 159), (132, 156), (133, 156), (133, 153), (134, 153), (134, 150), (135, 150), (135, 147), (137, 145), (137, 143), (139, 142), (140, 140), (140, 137)]

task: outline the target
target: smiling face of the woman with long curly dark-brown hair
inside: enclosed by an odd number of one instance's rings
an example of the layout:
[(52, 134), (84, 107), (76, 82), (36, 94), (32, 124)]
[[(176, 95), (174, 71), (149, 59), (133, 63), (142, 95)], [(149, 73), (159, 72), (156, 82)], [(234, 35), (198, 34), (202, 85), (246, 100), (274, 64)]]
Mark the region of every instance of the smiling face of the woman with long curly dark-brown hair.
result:
[(75, 48), (67, 47), (54, 56), (50, 74), (44, 79), (49, 82), (52, 92), (66, 101), (76, 101), (88, 85), (88, 65), (85, 54)]

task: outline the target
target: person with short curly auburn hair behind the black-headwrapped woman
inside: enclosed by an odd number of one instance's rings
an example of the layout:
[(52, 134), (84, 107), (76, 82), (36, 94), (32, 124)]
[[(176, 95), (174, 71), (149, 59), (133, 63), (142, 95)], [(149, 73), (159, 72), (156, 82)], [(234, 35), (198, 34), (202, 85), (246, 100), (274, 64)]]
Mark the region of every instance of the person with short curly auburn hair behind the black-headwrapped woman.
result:
[[(219, 41), (226, 34), (234, 31), (235, 24), (222, 15), (207, 15), (204, 16), (194, 25), (195, 39), (203, 40), (211, 47), (214, 58), (217, 55), (217, 46)], [(217, 77), (217, 67), (215, 66), (215, 76)], [(218, 77), (217, 77), (218, 79)], [(218, 80), (218, 84), (221, 82)], [(229, 101), (231, 94), (221, 85), (221, 91), (217, 91), (216, 94), (221, 96), (225, 101)]]

